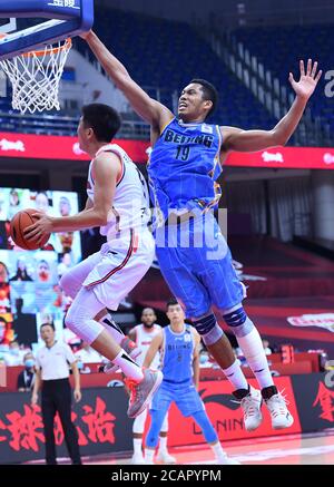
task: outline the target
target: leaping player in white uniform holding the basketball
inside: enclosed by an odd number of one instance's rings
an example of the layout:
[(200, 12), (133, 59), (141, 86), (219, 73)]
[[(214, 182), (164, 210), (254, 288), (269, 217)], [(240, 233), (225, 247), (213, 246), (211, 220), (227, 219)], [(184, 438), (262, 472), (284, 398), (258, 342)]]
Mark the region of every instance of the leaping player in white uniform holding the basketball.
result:
[(82, 108), (78, 126), (80, 148), (92, 160), (89, 166), (87, 204), (72, 216), (36, 214), (38, 221), (26, 237), (52, 232), (100, 226), (107, 236), (101, 250), (66, 273), (60, 285), (73, 299), (66, 325), (95, 350), (118, 366), (131, 391), (128, 416), (146, 409), (161, 381), (161, 372), (143, 370), (120, 347), (126, 338), (108, 314), (148, 271), (154, 259), (154, 240), (147, 227), (149, 199), (144, 177), (129, 156), (110, 144), (120, 128), (114, 108), (91, 104)]

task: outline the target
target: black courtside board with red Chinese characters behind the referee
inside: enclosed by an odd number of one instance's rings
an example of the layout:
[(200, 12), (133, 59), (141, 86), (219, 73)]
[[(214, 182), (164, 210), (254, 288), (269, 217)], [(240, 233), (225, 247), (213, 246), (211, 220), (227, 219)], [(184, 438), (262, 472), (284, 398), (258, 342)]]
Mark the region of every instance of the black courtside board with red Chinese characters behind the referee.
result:
[[(127, 407), (128, 396), (122, 388), (82, 390), (82, 400), (73, 405), (71, 412), (81, 455), (130, 450), (132, 425), (126, 413)], [(67, 456), (58, 416), (53, 430), (58, 456)], [(30, 405), (30, 393), (2, 393), (0, 465), (42, 459), (45, 442), (41, 407)]]

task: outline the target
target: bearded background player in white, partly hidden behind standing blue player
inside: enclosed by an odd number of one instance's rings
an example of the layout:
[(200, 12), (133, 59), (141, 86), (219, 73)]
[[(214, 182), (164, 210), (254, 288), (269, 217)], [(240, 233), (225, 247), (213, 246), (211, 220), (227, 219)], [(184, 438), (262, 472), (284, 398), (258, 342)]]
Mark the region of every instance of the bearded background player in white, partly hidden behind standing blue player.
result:
[[(140, 350), (140, 355), (137, 358), (137, 363), (143, 366), (146, 353), (150, 347), (153, 339), (161, 332), (161, 327), (156, 324), (157, 316), (153, 308), (145, 308), (141, 313), (141, 323), (132, 328), (129, 331), (129, 338), (134, 340), (138, 349)], [(160, 366), (160, 354), (157, 353), (151, 361), (151, 369), (157, 370)], [(134, 434), (134, 456), (131, 458), (131, 464), (145, 464), (145, 458), (143, 456), (143, 437), (145, 422), (148, 413), (148, 408), (145, 409), (134, 421), (132, 434)], [(161, 464), (176, 464), (176, 458), (169, 455), (167, 449), (167, 434), (168, 434), (168, 415), (166, 415), (161, 430), (160, 430), (160, 441), (157, 459)]]

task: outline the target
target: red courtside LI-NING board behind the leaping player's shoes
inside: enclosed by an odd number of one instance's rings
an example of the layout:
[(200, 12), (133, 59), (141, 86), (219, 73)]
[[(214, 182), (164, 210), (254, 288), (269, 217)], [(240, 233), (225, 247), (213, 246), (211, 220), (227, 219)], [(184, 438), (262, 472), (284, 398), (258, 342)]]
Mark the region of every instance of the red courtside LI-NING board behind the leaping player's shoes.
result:
[[(256, 380), (250, 379), (249, 383), (258, 388)], [(279, 391), (284, 391), (283, 395), (286, 396), (288, 400), (288, 409), (294, 417), (294, 423), (288, 430), (273, 430), (271, 416), (263, 405), (263, 423), (255, 431), (247, 432), (244, 429), (243, 423), (243, 410), (239, 403), (234, 402), (232, 396), (232, 387), (227, 380), (216, 380), (216, 381), (205, 381), (199, 384), (199, 393), (204, 401), (206, 411), (210, 421), (218, 434), (220, 441), (234, 440), (234, 439), (245, 439), (245, 438), (257, 438), (257, 437), (268, 437), (273, 435), (286, 435), (301, 432), (301, 422), (297, 411), (296, 400), (294, 390), (292, 387), (289, 377), (278, 377), (275, 378), (275, 384)], [(171, 406), (169, 417), (169, 432), (168, 432), (168, 445), (170, 447), (181, 446), (181, 445), (196, 445), (203, 444), (204, 437), (195, 423), (193, 418), (184, 418), (175, 405)], [(181, 425), (181, 428), (179, 427)]]

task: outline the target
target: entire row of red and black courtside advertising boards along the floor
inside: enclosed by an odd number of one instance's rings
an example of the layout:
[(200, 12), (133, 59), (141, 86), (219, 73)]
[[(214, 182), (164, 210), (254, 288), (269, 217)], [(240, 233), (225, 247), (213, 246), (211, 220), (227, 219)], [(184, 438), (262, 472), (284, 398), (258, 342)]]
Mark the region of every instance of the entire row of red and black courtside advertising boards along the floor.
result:
[[(255, 379), (250, 384), (258, 388)], [(304, 376), (276, 377), (275, 384), (288, 401), (294, 417), (291, 428), (273, 430), (269, 413), (263, 405), (263, 425), (245, 431), (243, 411), (232, 396), (227, 380), (208, 380), (199, 384), (199, 393), (219, 440), (250, 439), (277, 435), (324, 431), (334, 427), (334, 371)], [(132, 420), (127, 417), (128, 396), (121, 387), (82, 390), (82, 400), (73, 403), (81, 455), (129, 452), (132, 448)], [(149, 427), (146, 421), (146, 431)], [(190, 446), (205, 442), (191, 418), (184, 418), (175, 405), (168, 417), (168, 446)], [(55, 425), (58, 456), (68, 455), (63, 431), (58, 419)], [(19, 464), (45, 457), (45, 435), (40, 406), (32, 408), (30, 393), (3, 392), (0, 408), (0, 465)]]

